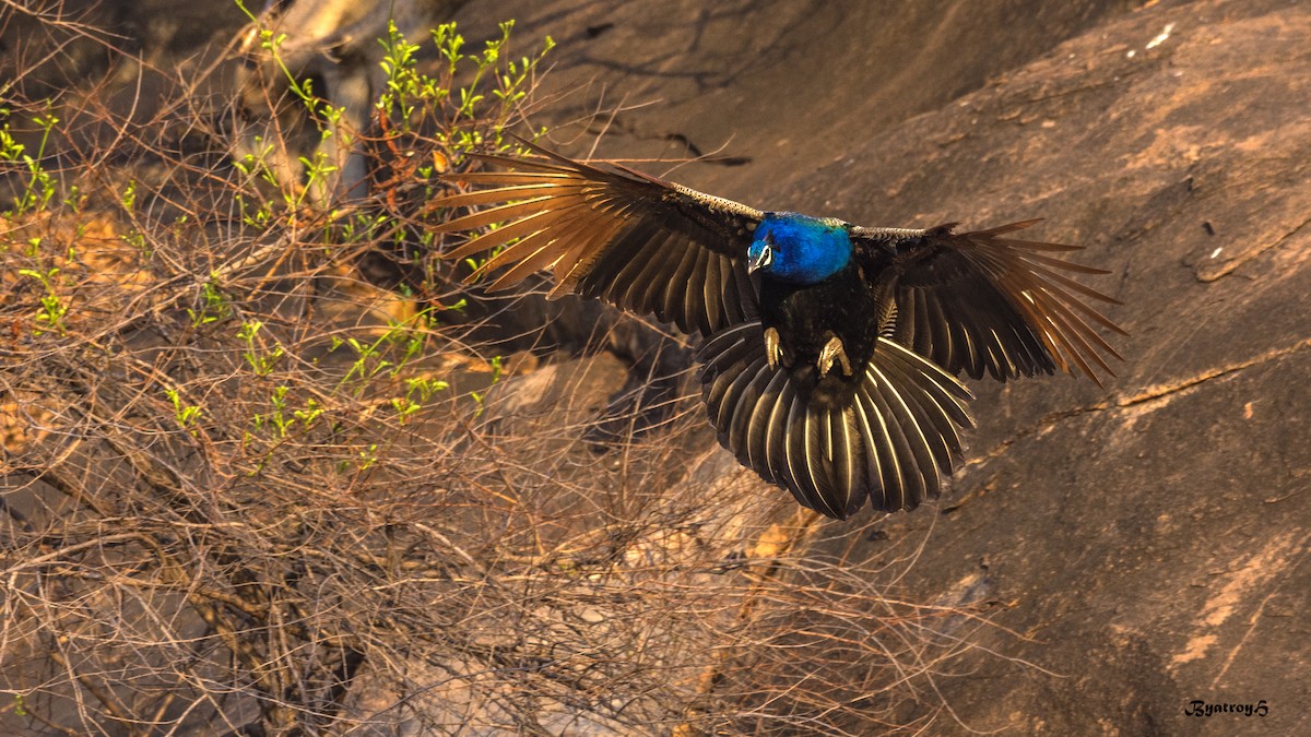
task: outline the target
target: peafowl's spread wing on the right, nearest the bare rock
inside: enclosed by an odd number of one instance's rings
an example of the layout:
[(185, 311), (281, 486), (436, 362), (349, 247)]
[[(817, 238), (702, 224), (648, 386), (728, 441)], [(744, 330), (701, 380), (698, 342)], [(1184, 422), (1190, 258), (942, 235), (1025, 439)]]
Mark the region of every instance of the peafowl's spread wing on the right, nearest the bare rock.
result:
[(1091, 303), (1120, 303), (1072, 278), (1108, 271), (1053, 256), (1079, 247), (1000, 237), (1033, 223), (970, 233), (852, 228), (867, 264), (895, 269), (893, 340), (974, 379), (1078, 367), (1100, 384), (1095, 366), (1113, 374), (1106, 359), (1120, 354), (1099, 328), (1124, 330)]

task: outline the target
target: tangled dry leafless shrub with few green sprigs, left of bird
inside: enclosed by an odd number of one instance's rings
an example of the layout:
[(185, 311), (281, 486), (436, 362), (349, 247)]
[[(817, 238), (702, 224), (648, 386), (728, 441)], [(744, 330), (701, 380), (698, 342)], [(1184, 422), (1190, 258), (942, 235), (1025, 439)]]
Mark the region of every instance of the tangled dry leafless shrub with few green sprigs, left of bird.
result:
[[(122, 60), (58, 9), (22, 21)], [(140, 119), (88, 92), (108, 80), (25, 98), (49, 79), (25, 58), (7, 130), (30, 160), (0, 172), (0, 730), (937, 716), (929, 674), (982, 620), (899, 601), (906, 560), (809, 552), (818, 521), (717, 448), (692, 382), (663, 428), (598, 454), (579, 438), (619, 362), (471, 342), (501, 315), (458, 308), (422, 202), (459, 134), (526, 115), (531, 76), (493, 113), (357, 131), (371, 194), (332, 209), (232, 165), (205, 80), (156, 70)]]

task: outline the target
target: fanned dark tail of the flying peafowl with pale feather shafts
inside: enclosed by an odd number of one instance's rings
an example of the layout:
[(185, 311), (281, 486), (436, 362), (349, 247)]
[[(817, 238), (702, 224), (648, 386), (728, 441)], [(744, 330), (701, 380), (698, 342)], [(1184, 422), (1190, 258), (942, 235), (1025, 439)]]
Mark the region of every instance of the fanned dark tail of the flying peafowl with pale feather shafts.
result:
[(886, 511), (936, 497), (973, 426), (956, 376), (878, 338), (851, 396), (823, 401), (814, 367), (771, 368), (759, 323), (697, 353), (701, 396), (720, 445), (802, 505), (846, 519), (869, 500)]

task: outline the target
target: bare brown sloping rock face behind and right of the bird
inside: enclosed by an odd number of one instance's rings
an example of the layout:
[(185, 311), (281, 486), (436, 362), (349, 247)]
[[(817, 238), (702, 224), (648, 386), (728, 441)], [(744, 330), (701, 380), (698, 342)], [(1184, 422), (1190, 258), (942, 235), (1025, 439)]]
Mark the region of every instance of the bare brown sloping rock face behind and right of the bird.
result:
[(522, 0), (459, 16), (489, 35), (503, 17), (561, 43), (548, 88), (574, 93), (540, 122), (649, 104), (558, 129), (566, 149), (600, 130), (602, 155), (722, 149), (673, 176), (871, 226), (1045, 216), (1041, 237), (1113, 271), (1117, 378), (975, 383), (979, 428), (945, 498), (846, 523), (874, 535), (830, 523), (814, 548), (922, 546), (898, 595), (998, 605), (958, 675), (936, 678), (952, 716), (932, 732), (1311, 733), (1311, 8)]

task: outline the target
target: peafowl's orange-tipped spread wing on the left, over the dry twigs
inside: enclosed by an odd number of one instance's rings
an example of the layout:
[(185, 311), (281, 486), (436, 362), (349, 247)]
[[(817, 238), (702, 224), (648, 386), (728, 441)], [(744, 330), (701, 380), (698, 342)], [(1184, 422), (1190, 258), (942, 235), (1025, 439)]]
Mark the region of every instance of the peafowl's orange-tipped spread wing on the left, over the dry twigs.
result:
[[(485, 231), (446, 253), (494, 253), (475, 274), (507, 268), (490, 290), (551, 269), (551, 296), (576, 292), (637, 313), (653, 312), (683, 332), (711, 336), (758, 313), (745, 257), (758, 210), (619, 167), (590, 165), (523, 143), (539, 157), (476, 156), (507, 172), (452, 173), (490, 185), (435, 199), (439, 207), (493, 205), (437, 226)], [(602, 168), (604, 167), (604, 168)]]

